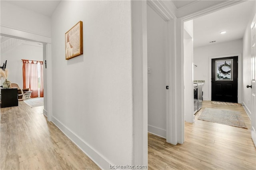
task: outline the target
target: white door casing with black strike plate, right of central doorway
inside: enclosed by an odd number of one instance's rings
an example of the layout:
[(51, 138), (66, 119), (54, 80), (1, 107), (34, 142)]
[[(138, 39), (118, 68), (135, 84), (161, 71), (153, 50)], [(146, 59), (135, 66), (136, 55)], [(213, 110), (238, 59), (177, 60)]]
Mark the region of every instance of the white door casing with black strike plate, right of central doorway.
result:
[[(147, 5), (150, 6), (165, 22), (166, 22), (166, 85), (171, 87), (171, 80), (174, 79), (174, 19), (175, 16), (168, 11), (168, 8), (161, 1), (148, 0)], [(146, 56), (148, 57), (148, 56)], [(147, 67), (145, 68), (147, 69)], [(144, 72), (147, 74), (147, 72)], [(146, 75), (148, 76), (148, 75)], [(145, 83), (148, 86), (148, 82)], [(143, 96), (148, 98), (148, 96)], [(146, 99), (147, 100), (147, 99)], [(176, 122), (174, 112), (174, 88), (166, 90), (166, 142), (176, 143)]]

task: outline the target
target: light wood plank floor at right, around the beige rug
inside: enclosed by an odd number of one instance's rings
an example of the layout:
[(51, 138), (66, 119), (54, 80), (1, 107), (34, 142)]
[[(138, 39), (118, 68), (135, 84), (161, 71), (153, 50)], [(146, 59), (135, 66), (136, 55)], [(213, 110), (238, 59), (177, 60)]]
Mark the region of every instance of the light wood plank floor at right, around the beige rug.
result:
[[(197, 120), (205, 107), (240, 111), (248, 129)], [(255, 170), (256, 148), (250, 119), (242, 106), (213, 105), (203, 101), (195, 123), (185, 122), (185, 143), (172, 145), (148, 134), (148, 169)]]

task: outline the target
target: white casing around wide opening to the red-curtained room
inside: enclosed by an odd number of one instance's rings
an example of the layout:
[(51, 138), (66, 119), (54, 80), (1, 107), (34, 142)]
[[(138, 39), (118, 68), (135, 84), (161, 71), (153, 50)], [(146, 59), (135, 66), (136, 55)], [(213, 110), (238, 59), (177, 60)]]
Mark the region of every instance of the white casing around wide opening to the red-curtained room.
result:
[(36, 34), (33, 32), (28, 32), (25, 30), (19, 30), (16, 28), (11, 28), (7, 26), (0, 26), (0, 35), (1, 36), (8, 36), (11, 38), (18, 38), (21, 40), (28, 40), (32, 42), (40, 42), (43, 43), (43, 58), (46, 58), (47, 62), (47, 70), (46, 70), (46, 89), (47, 89), (47, 108), (45, 111), (44, 108), (44, 115), (46, 113), (47, 120), (52, 120), (52, 67), (51, 67), (51, 37), (44, 36), (40, 34)]

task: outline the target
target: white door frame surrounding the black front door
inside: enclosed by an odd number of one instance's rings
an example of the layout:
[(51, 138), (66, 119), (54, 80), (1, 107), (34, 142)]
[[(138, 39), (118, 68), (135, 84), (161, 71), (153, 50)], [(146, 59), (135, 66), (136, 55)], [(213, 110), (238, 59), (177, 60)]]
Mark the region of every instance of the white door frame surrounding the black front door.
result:
[(228, 54), (228, 55), (218, 55), (218, 56), (210, 56), (208, 57), (208, 74), (209, 74), (209, 79), (208, 79), (208, 86), (209, 86), (209, 91), (208, 91), (208, 97), (209, 100), (212, 99), (212, 83), (210, 83), (212, 80), (212, 59), (215, 58), (225, 58), (225, 57), (234, 57), (238, 56), (238, 82), (237, 82), (237, 101), (238, 103), (242, 103), (242, 53), (236, 53), (236, 54)]

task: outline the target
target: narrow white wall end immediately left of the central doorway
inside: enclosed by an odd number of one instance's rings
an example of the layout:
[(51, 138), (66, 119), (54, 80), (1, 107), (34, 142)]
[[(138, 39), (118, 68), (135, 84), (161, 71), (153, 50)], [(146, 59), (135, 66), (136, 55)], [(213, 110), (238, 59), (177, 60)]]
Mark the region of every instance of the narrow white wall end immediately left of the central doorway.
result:
[[(147, 2), (131, 1), (134, 164), (148, 165)], [(144, 34), (142, 34), (142, 32)]]

